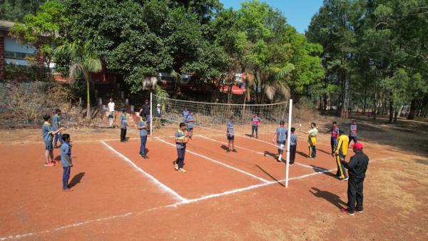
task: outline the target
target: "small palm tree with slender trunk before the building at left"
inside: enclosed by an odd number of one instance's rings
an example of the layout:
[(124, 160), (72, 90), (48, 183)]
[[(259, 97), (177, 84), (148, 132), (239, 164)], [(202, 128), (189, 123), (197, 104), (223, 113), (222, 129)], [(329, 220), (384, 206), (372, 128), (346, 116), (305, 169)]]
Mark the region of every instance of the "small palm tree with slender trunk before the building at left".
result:
[(86, 81), (86, 94), (87, 94), (87, 112), (86, 120), (91, 121), (91, 101), (89, 95), (89, 73), (99, 72), (103, 68), (100, 58), (96, 56), (93, 43), (87, 41), (73, 41), (73, 43), (64, 43), (55, 49), (54, 53), (61, 56), (68, 56), (71, 61), (69, 69), (70, 83), (76, 80), (79, 76), (83, 76)]

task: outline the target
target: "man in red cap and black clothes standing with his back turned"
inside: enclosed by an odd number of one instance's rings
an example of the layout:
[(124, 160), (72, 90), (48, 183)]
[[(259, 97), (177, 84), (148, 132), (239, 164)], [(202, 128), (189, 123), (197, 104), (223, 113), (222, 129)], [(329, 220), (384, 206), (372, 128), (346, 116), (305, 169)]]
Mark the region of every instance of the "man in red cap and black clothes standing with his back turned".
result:
[[(347, 163), (342, 160), (342, 164), (345, 165), (350, 176), (347, 189), (347, 208), (342, 208), (342, 212), (352, 216), (355, 211), (362, 212), (362, 184), (364, 183), (367, 165), (369, 165), (369, 157), (362, 152), (362, 148), (362, 143), (355, 143), (352, 145), (355, 155), (351, 157), (350, 162)], [(356, 205), (355, 201), (357, 202)]]

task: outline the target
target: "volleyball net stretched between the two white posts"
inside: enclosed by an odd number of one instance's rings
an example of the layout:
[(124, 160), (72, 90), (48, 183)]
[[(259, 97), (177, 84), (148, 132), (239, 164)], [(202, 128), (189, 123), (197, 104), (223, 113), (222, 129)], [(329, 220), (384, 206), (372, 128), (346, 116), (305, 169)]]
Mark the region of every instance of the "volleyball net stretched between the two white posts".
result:
[[(190, 113), (193, 113), (195, 132), (200, 129), (207, 130), (212, 134), (225, 135), (228, 121), (230, 117), (233, 117), (235, 135), (259, 138), (270, 142), (280, 120), (285, 120), (287, 123), (287, 106), (287, 102), (247, 105), (182, 101), (153, 94), (153, 118), (156, 119), (158, 116), (159, 108), (161, 115), (158, 118), (162, 120), (161, 125), (156, 121), (153, 123), (153, 131), (156, 132), (157, 128), (162, 128), (165, 125), (178, 126), (179, 123), (185, 122)], [(253, 128), (253, 125), (257, 125), (257, 128)]]

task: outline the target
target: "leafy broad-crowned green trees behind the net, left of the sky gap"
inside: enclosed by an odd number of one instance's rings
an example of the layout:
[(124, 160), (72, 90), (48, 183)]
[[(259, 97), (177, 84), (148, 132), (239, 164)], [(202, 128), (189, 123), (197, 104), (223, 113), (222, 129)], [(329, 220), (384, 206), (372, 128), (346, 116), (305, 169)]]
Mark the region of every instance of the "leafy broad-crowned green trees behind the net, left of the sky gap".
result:
[[(46, 11), (51, 8), (58, 12)], [(121, 73), (133, 92), (146, 88), (158, 72), (175, 77), (173, 97), (182, 95), (182, 73), (218, 92), (245, 71), (247, 91), (255, 102), (267, 103), (305, 95), (324, 75), (322, 47), (308, 43), (280, 11), (259, 1), (243, 2), (238, 11), (223, 9), (218, 0), (47, 1), (11, 32), (33, 44), (27, 36), (31, 29), (42, 29), (32, 31), (45, 40), (36, 48), (54, 53), (58, 68), (72, 61), (39, 46), (91, 42), (103, 68)]]

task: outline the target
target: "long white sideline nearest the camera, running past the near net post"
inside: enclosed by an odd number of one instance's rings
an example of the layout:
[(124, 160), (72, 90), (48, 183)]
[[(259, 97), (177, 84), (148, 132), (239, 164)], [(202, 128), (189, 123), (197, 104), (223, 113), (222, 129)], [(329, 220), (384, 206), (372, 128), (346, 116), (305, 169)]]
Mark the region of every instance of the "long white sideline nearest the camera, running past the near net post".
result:
[[(375, 160), (371, 160), (370, 162), (379, 161), (379, 160), (388, 160), (388, 159), (392, 159), (392, 158), (394, 158), (394, 157), (375, 159)], [(310, 177), (312, 175), (318, 175), (318, 174), (322, 174), (322, 173), (331, 172), (332, 170), (336, 170), (336, 168), (335, 169), (331, 169), (331, 170), (324, 170), (322, 172), (317, 172), (317, 173), (310, 173), (310, 174), (307, 174), (307, 175), (302, 175), (300, 177), (290, 178), (289, 180), (299, 180), (299, 179)], [(281, 182), (284, 182), (284, 181), (285, 180), (270, 181), (270, 182), (261, 183), (261, 184), (258, 184), (258, 185), (250, 185), (247, 188), (238, 188), (238, 189), (235, 189), (235, 190), (225, 191), (224, 193), (217, 193), (217, 194), (205, 195), (205, 196), (202, 196), (200, 198), (194, 198), (194, 199), (190, 199), (190, 200), (186, 200), (186, 201), (175, 202), (175, 203), (173, 203), (171, 205), (165, 205), (165, 206), (161, 206), (161, 207), (153, 207), (153, 208), (149, 208), (148, 210), (143, 210), (143, 211), (140, 211), (140, 212), (126, 212), (126, 213), (121, 214), (121, 215), (113, 215), (113, 216), (110, 216), (110, 217), (100, 217), (100, 218), (97, 218), (97, 219), (86, 220), (86, 221), (83, 221), (83, 222), (75, 222), (75, 223), (72, 223), (72, 224), (69, 224), (69, 225), (63, 225), (61, 227), (56, 227), (56, 228), (53, 228), (53, 229), (50, 229), (50, 230), (43, 230), (43, 231), (39, 231), (39, 232), (28, 232), (28, 233), (22, 234), (22, 235), (8, 235), (8, 236), (0, 237), (0, 240), (19, 239), (19, 238), (30, 237), (30, 236), (34, 236), (34, 235), (42, 235), (42, 234), (49, 233), (49, 232), (55, 232), (55, 231), (59, 231), (59, 230), (64, 230), (64, 229), (67, 229), (69, 227), (83, 226), (83, 225), (86, 225), (86, 224), (91, 223), (91, 222), (103, 222), (103, 221), (106, 221), (106, 220), (113, 220), (113, 219), (116, 219), (116, 218), (128, 217), (128, 216), (131, 216), (131, 215), (141, 215), (144, 212), (150, 212), (150, 211), (158, 210), (158, 209), (161, 209), (161, 208), (178, 207), (179, 205), (183, 205), (183, 204), (188, 204), (188, 203), (192, 203), (192, 202), (198, 202), (198, 201), (207, 200), (207, 199), (210, 199), (210, 198), (218, 198), (218, 197), (221, 197), (221, 196), (224, 196), (224, 195), (230, 195), (230, 194), (234, 194), (234, 193), (241, 193), (241, 192), (244, 192), (246, 190), (251, 190), (251, 189), (255, 189), (255, 188), (261, 188), (261, 187), (265, 187), (267, 185), (272, 185), (272, 184), (275, 184), (275, 183), (281, 183)]]

